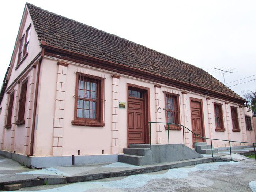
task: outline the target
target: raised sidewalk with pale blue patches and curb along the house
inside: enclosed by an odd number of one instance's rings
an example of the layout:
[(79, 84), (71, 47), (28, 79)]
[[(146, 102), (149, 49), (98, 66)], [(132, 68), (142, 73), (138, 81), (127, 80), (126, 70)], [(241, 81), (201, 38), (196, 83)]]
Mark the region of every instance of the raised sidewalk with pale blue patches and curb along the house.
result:
[[(233, 161), (250, 161), (243, 153), (253, 151), (253, 147), (232, 150)], [(72, 165), (48, 167), (45, 169), (30, 169), (18, 162), (0, 156), (0, 190), (15, 190), (45, 184), (63, 184), (83, 182), (101, 178), (129, 176), (133, 174), (149, 173), (165, 169), (184, 167), (208, 162), (230, 161), (230, 151), (222, 150), (212, 155), (202, 154), (204, 157), (176, 162), (158, 163), (154, 165), (135, 166), (114, 162), (90, 165)]]

